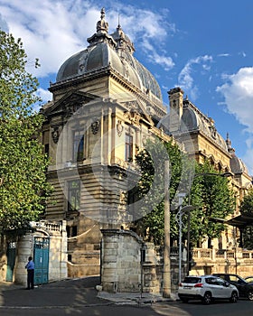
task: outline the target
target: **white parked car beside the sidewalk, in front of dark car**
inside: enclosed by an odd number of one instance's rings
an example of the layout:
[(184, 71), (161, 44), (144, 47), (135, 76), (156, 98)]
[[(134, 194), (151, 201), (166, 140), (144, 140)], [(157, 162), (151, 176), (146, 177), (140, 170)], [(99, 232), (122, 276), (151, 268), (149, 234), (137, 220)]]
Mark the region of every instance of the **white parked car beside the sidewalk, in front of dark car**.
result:
[(178, 296), (182, 302), (201, 300), (210, 304), (214, 300), (228, 299), (237, 302), (239, 291), (236, 286), (214, 275), (189, 275), (179, 284)]

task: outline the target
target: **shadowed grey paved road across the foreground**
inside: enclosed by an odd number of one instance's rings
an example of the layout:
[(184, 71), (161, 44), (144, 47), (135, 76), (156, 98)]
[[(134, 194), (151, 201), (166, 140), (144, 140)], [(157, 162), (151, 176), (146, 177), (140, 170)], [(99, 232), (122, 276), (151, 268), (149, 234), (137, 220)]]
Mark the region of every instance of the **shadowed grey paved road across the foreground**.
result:
[(122, 305), (98, 298), (95, 286), (98, 277), (48, 283), (24, 290), (0, 289), (1, 316), (252, 316), (253, 302), (240, 300), (236, 304), (217, 302), (204, 306), (201, 302), (155, 302), (136, 301)]

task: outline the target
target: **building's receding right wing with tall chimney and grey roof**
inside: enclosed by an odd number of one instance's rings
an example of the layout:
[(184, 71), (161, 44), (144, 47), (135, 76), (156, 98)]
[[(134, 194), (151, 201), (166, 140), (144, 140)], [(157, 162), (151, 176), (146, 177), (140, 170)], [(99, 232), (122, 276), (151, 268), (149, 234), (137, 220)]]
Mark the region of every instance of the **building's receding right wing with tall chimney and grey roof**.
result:
[[(237, 225), (236, 218), (239, 217), (240, 201), (247, 194), (248, 189), (252, 188), (252, 177), (232, 148), (229, 134), (224, 140), (217, 131), (213, 119), (202, 114), (187, 97), (183, 98), (181, 88), (172, 88), (168, 94), (170, 113), (163, 117), (158, 126), (163, 127), (168, 135), (173, 135), (177, 142), (183, 143), (186, 152), (198, 163), (208, 159), (217, 172), (227, 172), (231, 175), (230, 185), (234, 191), (237, 209), (233, 214), (233, 220), (230, 220), (234, 228), (230, 227), (229, 235), (234, 236), (234, 240), (228, 242), (228, 238), (224, 235), (220, 239), (220, 246), (226, 248), (228, 244), (234, 245), (235, 237), (236, 239), (241, 237), (239, 229), (235, 231), (235, 228), (242, 228), (247, 222), (247, 218), (243, 220), (240, 217), (241, 225)], [(213, 240), (213, 246), (218, 247), (218, 244), (218, 241)]]

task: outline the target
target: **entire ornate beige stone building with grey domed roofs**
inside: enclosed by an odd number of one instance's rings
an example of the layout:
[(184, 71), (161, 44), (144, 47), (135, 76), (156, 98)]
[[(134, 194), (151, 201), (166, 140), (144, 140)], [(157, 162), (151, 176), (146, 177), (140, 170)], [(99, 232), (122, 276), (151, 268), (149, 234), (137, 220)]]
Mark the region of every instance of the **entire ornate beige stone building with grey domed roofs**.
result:
[(225, 141), (181, 88), (169, 91), (167, 115), (158, 83), (134, 57), (121, 26), (108, 33), (104, 9), (87, 41), (85, 50), (62, 64), (49, 88), (52, 101), (42, 108), (47, 175), (54, 186), (45, 218), (67, 222), (70, 276), (98, 274), (100, 229), (124, 228), (133, 219), (127, 191), (136, 179), (134, 157), (147, 137), (173, 135), (199, 163), (208, 158), (218, 171), (232, 172), (238, 200), (251, 185), (229, 136)]

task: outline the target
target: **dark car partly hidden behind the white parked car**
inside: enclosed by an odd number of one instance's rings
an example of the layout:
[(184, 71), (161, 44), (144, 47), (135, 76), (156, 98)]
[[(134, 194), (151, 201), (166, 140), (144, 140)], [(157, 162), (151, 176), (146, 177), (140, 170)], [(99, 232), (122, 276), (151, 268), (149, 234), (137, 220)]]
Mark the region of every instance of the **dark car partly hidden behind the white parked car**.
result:
[(238, 274), (213, 274), (221, 279), (235, 285), (239, 290), (239, 297), (246, 297), (249, 301), (253, 301), (253, 283), (248, 283)]

